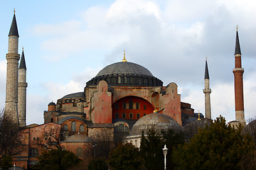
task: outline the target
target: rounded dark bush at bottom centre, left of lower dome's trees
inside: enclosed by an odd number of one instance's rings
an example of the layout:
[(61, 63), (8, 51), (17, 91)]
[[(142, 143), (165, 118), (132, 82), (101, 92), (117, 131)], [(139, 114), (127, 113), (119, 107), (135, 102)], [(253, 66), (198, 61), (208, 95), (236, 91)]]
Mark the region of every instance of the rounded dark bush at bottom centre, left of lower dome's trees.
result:
[(110, 152), (108, 164), (115, 170), (141, 169), (142, 158), (139, 149), (130, 143), (119, 145)]

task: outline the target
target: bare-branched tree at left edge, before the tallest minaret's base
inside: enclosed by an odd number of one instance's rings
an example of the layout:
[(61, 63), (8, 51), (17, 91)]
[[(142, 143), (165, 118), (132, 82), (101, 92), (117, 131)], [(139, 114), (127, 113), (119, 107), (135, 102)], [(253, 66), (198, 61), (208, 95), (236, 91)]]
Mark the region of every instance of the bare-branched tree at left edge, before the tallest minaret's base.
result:
[(0, 113), (0, 159), (7, 154), (11, 157), (23, 151), (23, 136), (19, 130), (18, 123), (3, 109)]

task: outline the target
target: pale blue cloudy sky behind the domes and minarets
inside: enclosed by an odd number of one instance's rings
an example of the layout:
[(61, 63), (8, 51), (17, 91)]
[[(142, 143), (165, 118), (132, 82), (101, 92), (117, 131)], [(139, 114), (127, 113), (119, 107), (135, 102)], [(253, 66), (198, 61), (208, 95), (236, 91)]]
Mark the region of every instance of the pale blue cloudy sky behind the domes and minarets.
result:
[(0, 108), (5, 105), (8, 34), (16, 10), (27, 67), (27, 125), (43, 123), (48, 103), (83, 91), (123, 58), (178, 85), (181, 101), (204, 114), (206, 56), (212, 118), (235, 120), (234, 52), (238, 26), (245, 69), (245, 120), (255, 118), (256, 1), (1, 1)]

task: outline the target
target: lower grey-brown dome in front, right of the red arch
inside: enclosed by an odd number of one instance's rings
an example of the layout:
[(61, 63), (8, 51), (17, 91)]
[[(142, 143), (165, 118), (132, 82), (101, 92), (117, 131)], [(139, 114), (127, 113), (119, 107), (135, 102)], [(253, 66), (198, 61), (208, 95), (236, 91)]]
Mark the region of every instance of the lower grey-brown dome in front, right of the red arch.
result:
[(144, 135), (146, 135), (147, 131), (151, 128), (154, 128), (154, 130), (157, 132), (168, 129), (181, 130), (181, 127), (178, 125), (178, 123), (168, 115), (161, 113), (151, 113), (140, 118), (134, 124), (130, 132), (130, 136), (142, 135), (142, 131), (144, 132)]

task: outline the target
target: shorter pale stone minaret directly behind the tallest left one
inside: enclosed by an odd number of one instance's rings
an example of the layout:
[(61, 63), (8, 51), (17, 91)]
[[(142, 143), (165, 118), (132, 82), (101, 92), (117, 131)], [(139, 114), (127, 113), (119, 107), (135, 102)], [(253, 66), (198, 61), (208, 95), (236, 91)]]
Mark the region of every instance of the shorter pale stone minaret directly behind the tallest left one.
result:
[(18, 123), (21, 127), (26, 126), (26, 62), (22, 49), (21, 62), (18, 68)]

